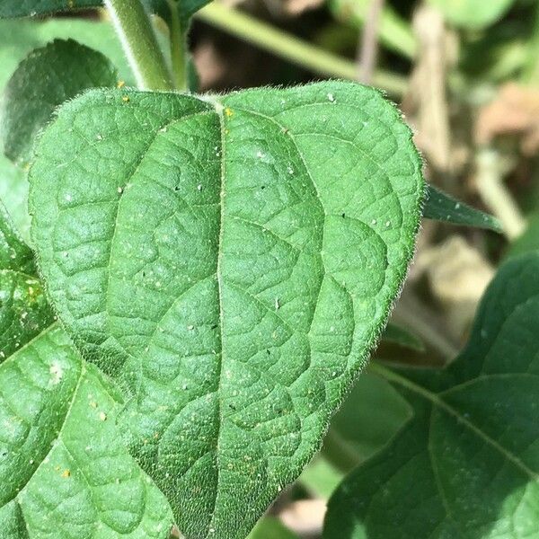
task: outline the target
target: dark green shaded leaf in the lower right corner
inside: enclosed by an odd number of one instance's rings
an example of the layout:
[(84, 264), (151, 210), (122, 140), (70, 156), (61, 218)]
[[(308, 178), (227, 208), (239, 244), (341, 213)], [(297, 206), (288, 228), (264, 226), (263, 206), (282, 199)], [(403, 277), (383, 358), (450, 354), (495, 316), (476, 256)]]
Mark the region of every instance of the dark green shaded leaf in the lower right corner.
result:
[(509, 261), (445, 370), (374, 366), (414, 416), (333, 495), (324, 538), (524, 539), (539, 526), (539, 255)]

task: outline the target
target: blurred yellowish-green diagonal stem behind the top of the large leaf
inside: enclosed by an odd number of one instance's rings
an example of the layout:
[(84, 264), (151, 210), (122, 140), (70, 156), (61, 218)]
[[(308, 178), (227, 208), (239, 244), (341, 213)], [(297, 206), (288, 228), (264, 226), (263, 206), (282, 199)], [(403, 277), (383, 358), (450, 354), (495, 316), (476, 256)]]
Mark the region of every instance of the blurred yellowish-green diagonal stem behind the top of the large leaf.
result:
[[(245, 13), (225, 7), (225, 5), (217, 2), (208, 4), (199, 11), (197, 16), (202, 21), (209, 22), (242, 40), (258, 45), (261, 49), (269, 50), (280, 57), (285, 57), (299, 66), (312, 69), (316, 73), (351, 80), (355, 80), (357, 77), (357, 66), (354, 62), (337, 57), (304, 40), (299, 40), (287, 32), (276, 30), (265, 22), (257, 21)], [(405, 93), (408, 85), (405, 77), (381, 70), (374, 74), (373, 84), (394, 96), (401, 96)]]

